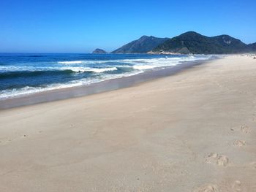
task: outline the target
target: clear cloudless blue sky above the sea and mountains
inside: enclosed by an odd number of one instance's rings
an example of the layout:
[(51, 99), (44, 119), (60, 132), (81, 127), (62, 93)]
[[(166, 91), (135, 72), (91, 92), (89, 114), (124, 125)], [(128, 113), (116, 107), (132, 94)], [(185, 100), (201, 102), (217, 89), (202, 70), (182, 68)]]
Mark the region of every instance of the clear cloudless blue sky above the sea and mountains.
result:
[(256, 42), (255, 0), (0, 0), (0, 53), (107, 51), (186, 31)]

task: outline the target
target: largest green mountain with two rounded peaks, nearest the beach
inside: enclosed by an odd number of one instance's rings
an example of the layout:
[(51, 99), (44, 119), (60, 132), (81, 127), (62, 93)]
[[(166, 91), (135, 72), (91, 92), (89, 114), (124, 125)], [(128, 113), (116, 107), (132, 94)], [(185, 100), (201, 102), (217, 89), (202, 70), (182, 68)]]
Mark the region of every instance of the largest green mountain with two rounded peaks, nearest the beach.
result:
[(194, 31), (189, 31), (168, 39), (155, 47), (150, 53), (229, 54), (246, 53), (249, 50), (249, 45), (228, 35), (206, 37)]

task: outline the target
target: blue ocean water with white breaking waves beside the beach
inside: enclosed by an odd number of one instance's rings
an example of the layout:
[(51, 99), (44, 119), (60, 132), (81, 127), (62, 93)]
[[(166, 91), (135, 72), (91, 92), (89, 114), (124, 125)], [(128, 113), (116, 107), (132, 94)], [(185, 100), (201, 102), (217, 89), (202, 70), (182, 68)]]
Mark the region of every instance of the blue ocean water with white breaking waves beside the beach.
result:
[(211, 55), (0, 53), (0, 99), (89, 85)]

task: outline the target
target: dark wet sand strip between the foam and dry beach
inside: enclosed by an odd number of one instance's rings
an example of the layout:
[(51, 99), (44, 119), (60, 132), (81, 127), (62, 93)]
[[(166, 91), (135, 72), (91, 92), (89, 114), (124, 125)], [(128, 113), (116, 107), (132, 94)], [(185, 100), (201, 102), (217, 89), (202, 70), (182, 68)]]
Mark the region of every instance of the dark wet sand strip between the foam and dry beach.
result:
[(50, 101), (71, 99), (81, 96), (88, 96), (95, 93), (114, 91), (120, 88), (127, 88), (140, 82), (146, 82), (161, 77), (167, 77), (181, 72), (182, 70), (191, 68), (193, 66), (206, 64), (215, 59), (219, 59), (219, 57), (214, 57), (203, 61), (183, 61), (181, 64), (178, 64), (176, 66), (167, 66), (165, 67), (165, 69), (151, 69), (140, 74), (135, 74), (127, 77), (118, 77), (115, 79), (104, 80), (101, 82), (94, 82), (90, 85), (80, 85), (70, 88), (57, 88), (49, 91), (42, 91), (39, 93), (31, 93), (8, 99), (1, 99), (0, 110), (7, 110), (13, 107), (22, 107), (26, 105), (39, 104)]

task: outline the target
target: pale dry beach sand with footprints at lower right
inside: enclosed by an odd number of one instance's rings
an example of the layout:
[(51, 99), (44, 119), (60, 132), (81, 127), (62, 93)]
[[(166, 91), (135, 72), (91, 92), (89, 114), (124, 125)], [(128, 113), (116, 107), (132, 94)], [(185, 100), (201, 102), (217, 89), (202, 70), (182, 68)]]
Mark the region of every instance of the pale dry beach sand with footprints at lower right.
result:
[(256, 60), (0, 111), (0, 191), (256, 191)]

